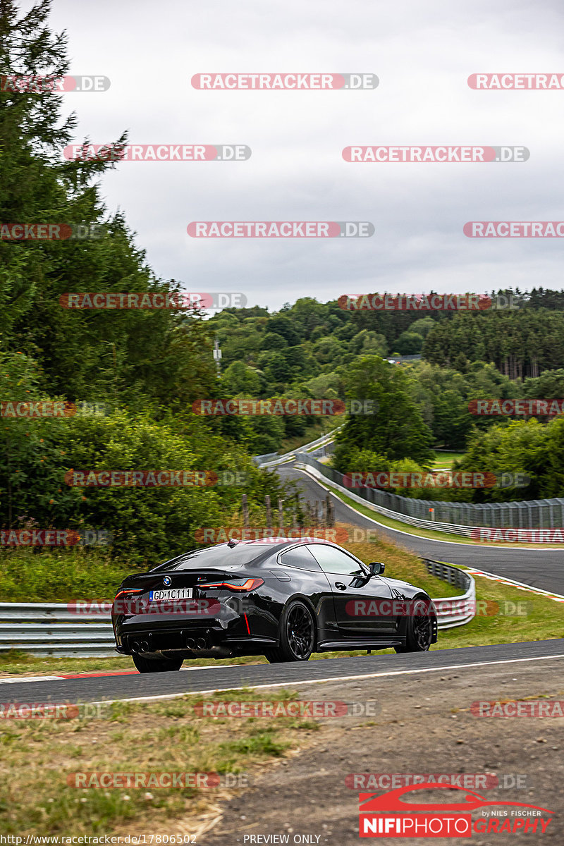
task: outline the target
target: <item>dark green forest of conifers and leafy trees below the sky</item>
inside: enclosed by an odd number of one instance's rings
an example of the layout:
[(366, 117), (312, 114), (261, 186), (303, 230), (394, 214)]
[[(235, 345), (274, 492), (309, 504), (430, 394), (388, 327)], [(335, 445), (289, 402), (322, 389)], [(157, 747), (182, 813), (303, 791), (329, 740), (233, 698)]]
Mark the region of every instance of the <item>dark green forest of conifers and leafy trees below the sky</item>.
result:
[[(4, 74), (68, 72), (67, 44), (48, 25), (48, 3), (19, 15), (3, 3)], [(342, 470), (374, 463), (428, 466), (433, 448), (466, 451), (481, 465), (528, 471), (527, 492), (564, 493), (560, 420), (476, 418), (476, 398), (564, 396), (564, 291), (533, 285), (490, 292), (476, 312), (346, 310), (311, 297), (276, 313), (255, 305), (209, 317), (179, 309), (76, 310), (69, 292), (176, 294), (146, 261), (127, 224), (101, 197), (108, 160), (67, 161), (76, 117), (57, 91), (0, 90), (0, 222), (100, 227), (92, 239), (0, 238), (0, 388), (4, 401), (98, 404), (100, 414), (64, 420), (8, 419), (0, 435), (0, 522), (4, 528), (65, 525), (112, 530), (114, 552), (143, 558), (170, 536), (193, 542), (194, 527), (235, 513), (241, 490), (140, 491), (77, 488), (70, 470), (239, 470), (260, 508), (266, 494), (294, 497), (251, 457), (328, 431), (314, 415), (206, 418), (201, 398), (373, 399), (374, 415), (348, 415), (335, 456)], [(119, 149), (127, 140), (114, 140)], [(478, 288), (478, 286), (477, 286)], [(505, 303), (507, 307), (496, 307)], [(212, 357), (222, 349), (221, 370)], [(393, 365), (386, 358), (421, 354)], [(343, 420), (338, 420), (343, 422)], [(181, 466), (178, 468), (178, 464)], [(370, 466), (372, 465), (372, 466)]]

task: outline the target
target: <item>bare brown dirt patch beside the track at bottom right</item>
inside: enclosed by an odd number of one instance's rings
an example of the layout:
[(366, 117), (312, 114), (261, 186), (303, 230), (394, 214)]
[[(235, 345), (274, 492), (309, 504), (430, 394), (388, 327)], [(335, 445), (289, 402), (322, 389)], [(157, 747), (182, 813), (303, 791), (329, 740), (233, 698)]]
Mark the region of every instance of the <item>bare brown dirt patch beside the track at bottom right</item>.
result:
[[(539, 843), (562, 843), (564, 718), (479, 718), (470, 711), (474, 700), (561, 700), (561, 671), (561, 660), (550, 659), (536, 665), (516, 662), (507, 667), (467, 667), (456, 673), (439, 671), (303, 687), (300, 699), (322, 695), (357, 703), (378, 700), (381, 712), (375, 718), (342, 717), (324, 722), (311, 748), (292, 760), (268, 766), (252, 788), (222, 805), (221, 820), (203, 842), (210, 846), (268, 843), (263, 838), (277, 834), (289, 835), (290, 844), (300, 837), (302, 843), (320, 846), (359, 843), (359, 789), (348, 788), (345, 779), (352, 773), (373, 772), (490, 773), (501, 783), (504, 776), (522, 775), (524, 788), (475, 792), (491, 801), (523, 802), (554, 811), (545, 834), (528, 837), (535, 842), (539, 838)], [(511, 778), (507, 784), (512, 784)], [(385, 791), (376, 788), (375, 792)], [(424, 800), (444, 802), (445, 794), (452, 797), (455, 793), (441, 790), (437, 799), (438, 792), (425, 791)], [(474, 820), (478, 816), (474, 811)], [(253, 841), (251, 835), (263, 838)], [(305, 840), (305, 835), (312, 839)], [(473, 832), (471, 842), (474, 846), (503, 846), (514, 843), (515, 837)], [(392, 842), (427, 841), (393, 838)], [(430, 842), (452, 846), (454, 841), (435, 838)]]

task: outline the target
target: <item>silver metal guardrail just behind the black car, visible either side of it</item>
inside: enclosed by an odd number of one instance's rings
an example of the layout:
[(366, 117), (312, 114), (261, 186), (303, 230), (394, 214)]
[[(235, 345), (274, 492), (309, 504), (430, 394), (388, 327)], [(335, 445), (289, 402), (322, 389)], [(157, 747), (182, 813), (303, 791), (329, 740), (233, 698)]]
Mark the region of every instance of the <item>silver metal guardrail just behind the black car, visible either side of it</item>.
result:
[[(463, 596), (434, 599), (439, 629), (461, 626), (474, 617), (474, 579), (463, 570), (424, 560), (439, 579), (465, 589)], [(0, 652), (20, 650), (37, 656), (117, 656), (110, 613), (96, 609), (91, 619), (55, 602), (0, 602)]]

